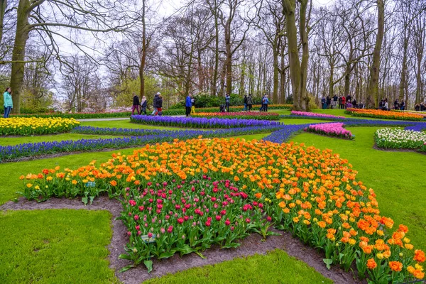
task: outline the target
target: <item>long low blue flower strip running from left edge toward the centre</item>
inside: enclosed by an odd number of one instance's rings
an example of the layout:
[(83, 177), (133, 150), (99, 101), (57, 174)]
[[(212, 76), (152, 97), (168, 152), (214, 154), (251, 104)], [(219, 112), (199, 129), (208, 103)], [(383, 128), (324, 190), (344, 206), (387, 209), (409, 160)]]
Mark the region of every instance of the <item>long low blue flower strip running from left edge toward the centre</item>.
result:
[[(40, 157), (42, 155), (53, 153), (69, 153), (76, 151), (97, 151), (106, 148), (125, 148), (132, 146), (142, 146), (147, 143), (161, 143), (174, 141), (175, 139), (186, 140), (199, 136), (203, 137), (231, 137), (239, 135), (248, 135), (256, 133), (264, 133), (276, 131), (285, 126), (253, 126), (236, 129), (217, 129), (210, 131), (202, 130), (136, 130), (123, 129), (121, 132), (117, 129), (98, 129), (89, 127), (93, 133), (104, 133), (106, 135), (129, 135), (135, 131), (136, 135), (124, 138), (108, 138), (108, 139), (80, 139), (66, 140), (40, 143), (23, 143), (16, 146), (0, 146), (0, 163), (17, 160), (23, 157)], [(90, 130), (84, 131), (90, 133)]]

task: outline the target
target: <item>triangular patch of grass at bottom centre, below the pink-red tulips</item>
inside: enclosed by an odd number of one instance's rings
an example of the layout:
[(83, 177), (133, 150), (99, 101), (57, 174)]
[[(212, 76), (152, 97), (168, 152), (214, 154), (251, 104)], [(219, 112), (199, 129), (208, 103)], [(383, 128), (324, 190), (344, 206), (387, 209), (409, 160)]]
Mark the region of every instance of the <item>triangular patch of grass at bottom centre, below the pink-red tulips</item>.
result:
[(228, 283), (332, 283), (306, 263), (280, 250), (266, 256), (236, 258), (214, 266), (191, 268), (187, 271), (147, 280), (146, 284), (228, 284)]

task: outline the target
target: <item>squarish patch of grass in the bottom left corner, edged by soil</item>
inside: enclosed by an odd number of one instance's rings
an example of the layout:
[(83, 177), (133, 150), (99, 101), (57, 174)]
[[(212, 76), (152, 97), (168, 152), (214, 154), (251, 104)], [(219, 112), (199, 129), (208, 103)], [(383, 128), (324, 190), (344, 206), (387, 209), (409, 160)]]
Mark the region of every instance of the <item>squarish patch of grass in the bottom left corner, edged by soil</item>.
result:
[(0, 283), (119, 283), (110, 220), (107, 211), (0, 212)]

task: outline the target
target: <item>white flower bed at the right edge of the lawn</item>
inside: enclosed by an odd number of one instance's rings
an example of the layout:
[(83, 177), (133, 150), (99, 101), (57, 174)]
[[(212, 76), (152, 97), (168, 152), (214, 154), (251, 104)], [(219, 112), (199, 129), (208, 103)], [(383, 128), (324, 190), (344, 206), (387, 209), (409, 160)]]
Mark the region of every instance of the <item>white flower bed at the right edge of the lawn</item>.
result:
[(403, 129), (378, 129), (374, 134), (379, 148), (421, 149), (426, 144), (426, 133)]

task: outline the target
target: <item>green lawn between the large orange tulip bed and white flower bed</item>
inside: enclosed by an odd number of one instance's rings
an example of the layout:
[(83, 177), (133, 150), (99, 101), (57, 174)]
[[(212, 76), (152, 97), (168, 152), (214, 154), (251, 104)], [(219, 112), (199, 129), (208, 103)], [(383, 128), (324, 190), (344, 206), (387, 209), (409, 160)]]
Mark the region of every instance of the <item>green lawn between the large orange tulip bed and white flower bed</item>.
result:
[(380, 151), (373, 149), (376, 127), (348, 128), (354, 141), (302, 133), (291, 140), (329, 148), (348, 159), (362, 180), (376, 192), (381, 214), (393, 218), (395, 227), (405, 224), (408, 238), (416, 249), (426, 250), (426, 157), (414, 152)]

